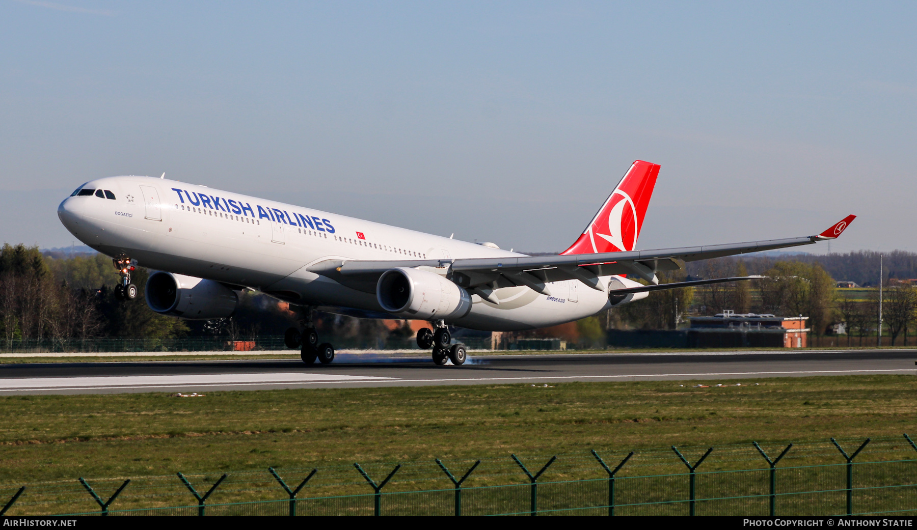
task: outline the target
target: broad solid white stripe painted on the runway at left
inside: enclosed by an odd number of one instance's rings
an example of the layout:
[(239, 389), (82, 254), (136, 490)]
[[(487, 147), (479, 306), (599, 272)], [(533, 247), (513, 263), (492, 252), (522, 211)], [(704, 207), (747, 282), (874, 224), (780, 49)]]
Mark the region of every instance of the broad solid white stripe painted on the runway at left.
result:
[(333, 373), (215, 373), (200, 375), (131, 375), (100, 377), (22, 378), (0, 380), (0, 392), (12, 390), (79, 390), (110, 388), (160, 388), (175, 386), (229, 386), (307, 382), (394, 380), (391, 377)]

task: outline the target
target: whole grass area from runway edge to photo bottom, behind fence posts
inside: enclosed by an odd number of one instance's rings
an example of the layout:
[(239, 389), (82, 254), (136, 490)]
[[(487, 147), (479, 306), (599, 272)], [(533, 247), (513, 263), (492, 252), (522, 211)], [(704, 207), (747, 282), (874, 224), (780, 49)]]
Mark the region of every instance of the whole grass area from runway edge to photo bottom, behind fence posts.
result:
[[(197, 398), (165, 393), (8, 396), (0, 398), (6, 418), (0, 425), (0, 491), (8, 497), (19, 484), (32, 484), (14, 513), (87, 512), (96, 507), (77, 477), (87, 478), (105, 495), (120, 480), (131, 478), (117, 506), (140, 509), (193, 502), (176, 471), (204, 488), (229, 472), (214, 502), (279, 499), (283, 493), (266, 470), (273, 466), (295, 481), (319, 468), (304, 497), (369, 493), (352, 467), (355, 461), (376, 480), (395, 462), (403, 463), (386, 491), (448, 489), (433, 458), (442, 458), (453, 469), (485, 459), (470, 487), (522, 484), (525, 478), (510, 453), (535, 469), (550, 455), (560, 455), (545, 480), (601, 479), (603, 471), (589, 454), (595, 448), (612, 463), (623, 458), (623, 451), (638, 451), (621, 475), (644, 485), (623, 492), (645, 502), (653, 495), (680, 499), (685, 494), (684, 480), (679, 479), (684, 476), (670, 475), (685, 472), (671, 445), (681, 447), (692, 461), (707, 446), (717, 446), (704, 462), (704, 472), (760, 469), (764, 462), (752, 440), (772, 454), (787, 442), (797, 442), (781, 467), (834, 464), (781, 475), (783, 487), (794, 491), (816, 483), (843, 483), (844, 467), (838, 465), (843, 460), (827, 441), (830, 436), (842, 439), (851, 452), (863, 438), (873, 437), (875, 442), (860, 457), (864, 461), (917, 457), (901, 436), (917, 433), (913, 376), (722, 382), (742, 386), (694, 388), (697, 381), (641, 381), (208, 392)], [(912, 462), (889, 466), (868, 468), (868, 477), (867, 468), (858, 470), (857, 480), (912, 483)], [(711, 476), (703, 481), (705, 494), (760, 494), (767, 483), (763, 472)], [(638, 478), (646, 475), (666, 477)], [(600, 480), (590, 486), (599, 501), (603, 484)], [(513, 490), (519, 498), (510, 504), (524, 510), (526, 488)], [(503, 490), (488, 491), (492, 496)], [(890, 491), (878, 493), (885, 499), (876, 504), (880, 507), (898, 509), (909, 502), (898, 498), (910, 494), (903, 490), (897, 497)], [(440, 508), (447, 512), (450, 497), (448, 492), (443, 495), (446, 501)], [(841, 493), (829, 497), (830, 502), (819, 501), (817, 513), (834, 513), (842, 506)], [(351, 507), (334, 501), (327, 510), (365, 513), (371, 509), (368, 499), (355, 497)], [(794, 513), (815, 510), (814, 501), (799, 502)], [(310, 504), (310, 509), (321, 504)], [(666, 509), (680, 513), (683, 506)], [(745, 510), (741, 505), (734, 509)], [(403, 507), (403, 513), (417, 510), (424, 509)]]

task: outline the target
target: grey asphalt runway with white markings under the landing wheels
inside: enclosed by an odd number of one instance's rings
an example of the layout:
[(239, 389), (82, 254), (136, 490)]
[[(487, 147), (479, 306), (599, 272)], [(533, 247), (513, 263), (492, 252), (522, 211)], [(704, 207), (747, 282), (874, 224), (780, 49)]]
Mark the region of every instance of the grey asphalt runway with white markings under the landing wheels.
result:
[(329, 365), (298, 359), (80, 362), (0, 365), (0, 395), (212, 392), (563, 381), (917, 375), (917, 349), (477, 355), (460, 367), (400, 354), (341, 354)]

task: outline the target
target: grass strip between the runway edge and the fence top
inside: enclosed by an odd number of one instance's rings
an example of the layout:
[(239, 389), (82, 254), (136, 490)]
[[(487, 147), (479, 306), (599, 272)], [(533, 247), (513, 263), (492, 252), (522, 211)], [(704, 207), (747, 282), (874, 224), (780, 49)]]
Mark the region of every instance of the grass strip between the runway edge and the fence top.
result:
[(0, 482), (917, 432), (913, 376), (741, 382), (3, 397)]

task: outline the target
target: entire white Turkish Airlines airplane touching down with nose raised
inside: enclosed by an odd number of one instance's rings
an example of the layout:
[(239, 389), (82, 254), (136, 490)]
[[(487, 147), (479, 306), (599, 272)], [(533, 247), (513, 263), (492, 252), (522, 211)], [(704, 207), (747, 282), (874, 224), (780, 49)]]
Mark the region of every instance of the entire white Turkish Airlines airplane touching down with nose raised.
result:
[[(556, 326), (646, 298), (654, 291), (744, 276), (659, 283), (657, 272), (693, 261), (812, 245), (841, 235), (856, 215), (815, 236), (726, 245), (636, 249), (659, 165), (636, 160), (582, 234), (557, 255), (528, 256), (149, 176), (85, 182), (58, 207), (74, 237), (110, 256), (116, 295), (138, 296), (131, 271), (150, 270), (144, 296), (160, 315), (233, 315), (238, 293), (267, 293), (303, 309), (286, 334), (306, 364), (334, 360), (320, 343), (315, 310), (361, 318), (428, 321), (417, 333), (436, 364), (461, 365), (467, 351), (449, 326), (515, 331)], [(640, 278), (636, 282), (627, 275)]]

